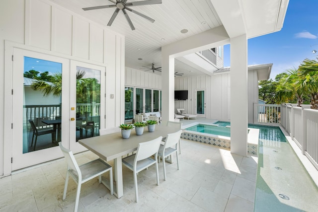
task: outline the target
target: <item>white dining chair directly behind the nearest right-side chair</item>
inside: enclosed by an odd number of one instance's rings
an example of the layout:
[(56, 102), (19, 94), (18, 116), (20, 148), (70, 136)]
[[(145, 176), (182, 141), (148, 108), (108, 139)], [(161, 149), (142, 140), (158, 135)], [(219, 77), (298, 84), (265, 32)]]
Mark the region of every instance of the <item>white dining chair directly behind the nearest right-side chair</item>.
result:
[(166, 180), (166, 171), (165, 171), (165, 160), (164, 158), (167, 156), (170, 156), (172, 153), (176, 153), (177, 156), (177, 167), (179, 170), (179, 158), (178, 158), (178, 141), (180, 139), (182, 130), (179, 130), (178, 132), (175, 133), (170, 133), (167, 135), (166, 140), (164, 144), (160, 145), (159, 151), (158, 151), (158, 157), (160, 161), (160, 157), (162, 157), (162, 162), (163, 162), (163, 175), (164, 175), (164, 180)]

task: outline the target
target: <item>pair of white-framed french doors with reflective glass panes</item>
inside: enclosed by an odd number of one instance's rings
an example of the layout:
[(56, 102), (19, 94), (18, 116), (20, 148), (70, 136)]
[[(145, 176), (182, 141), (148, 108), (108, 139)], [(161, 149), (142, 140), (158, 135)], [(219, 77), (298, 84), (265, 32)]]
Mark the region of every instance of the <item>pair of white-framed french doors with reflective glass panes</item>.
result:
[(79, 138), (105, 126), (105, 68), (18, 48), (13, 56), (12, 170), (62, 157), (59, 141), (85, 150)]

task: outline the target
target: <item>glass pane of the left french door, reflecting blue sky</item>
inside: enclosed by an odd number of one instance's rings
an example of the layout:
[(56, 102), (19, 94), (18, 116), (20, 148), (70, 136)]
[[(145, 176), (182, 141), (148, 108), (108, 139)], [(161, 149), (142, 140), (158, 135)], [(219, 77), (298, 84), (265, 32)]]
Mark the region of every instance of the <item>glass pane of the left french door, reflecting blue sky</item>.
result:
[(23, 153), (61, 141), (62, 64), (24, 56)]

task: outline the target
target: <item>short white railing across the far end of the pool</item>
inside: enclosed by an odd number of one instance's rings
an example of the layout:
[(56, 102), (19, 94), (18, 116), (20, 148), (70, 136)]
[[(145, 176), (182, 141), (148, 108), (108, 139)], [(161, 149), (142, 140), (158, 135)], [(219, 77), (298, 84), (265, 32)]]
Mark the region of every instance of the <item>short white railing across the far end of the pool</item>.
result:
[(254, 104), (254, 124), (279, 125), (281, 105)]

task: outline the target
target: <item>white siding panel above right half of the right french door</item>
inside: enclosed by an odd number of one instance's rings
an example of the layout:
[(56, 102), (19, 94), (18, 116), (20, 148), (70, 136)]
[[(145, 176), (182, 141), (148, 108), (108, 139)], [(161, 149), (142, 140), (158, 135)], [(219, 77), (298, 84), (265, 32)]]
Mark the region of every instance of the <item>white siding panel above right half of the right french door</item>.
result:
[(89, 60), (102, 63), (104, 58), (104, 30), (97, 25), (89, 25)]

